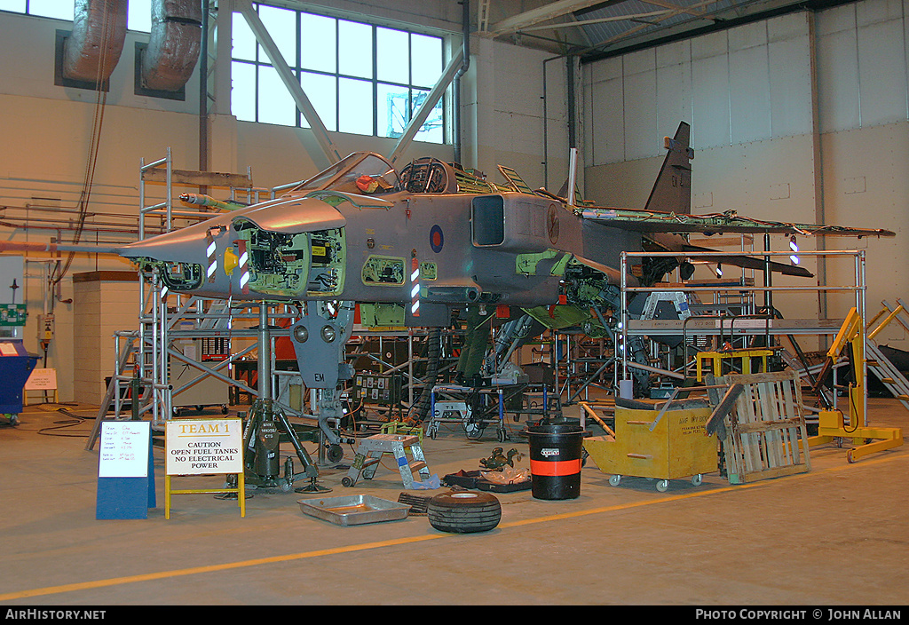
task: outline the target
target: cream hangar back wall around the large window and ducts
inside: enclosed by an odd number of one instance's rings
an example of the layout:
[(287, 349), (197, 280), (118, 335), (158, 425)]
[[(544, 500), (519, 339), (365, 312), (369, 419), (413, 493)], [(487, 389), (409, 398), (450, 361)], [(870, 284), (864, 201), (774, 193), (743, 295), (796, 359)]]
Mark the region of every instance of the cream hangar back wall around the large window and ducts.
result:
[[(220, 3), (222, 15), (230, 2)], [(275, 4), (280, 4), (276, 2)], [(390, 24), (411, 22), (434, 29), (448, 29), (453, 46), (460, 45), (461, 9), (457, 3), (385, 3), (334, 1), (316, 3), (326, 9), (340, 9), (341, 16), (375, 19)], [(318, 10), (315, 7), (315, 10)], [(366, 13), (370, 15), (365, 15)], [(136, 42), (147, 42), (146, 33), (129, 31), (120, 63), (110, 79), (104, 105), (94, 90), (55, 85), (56, 31), (69, 30), (71, 22), (0, 13), (0, 237), (5, 241), (46, 243), (51, 237), (72, 241), (80, 192), (84, 188), (90, 145), (97, 139), (97, 160), (92, 179), (90, 216), (81, 243), (128, 243), (135, 236), (123, 231), (135, 229), (138, 213), (139, 166), (173, 152), (174, 167), (198, 169), (198, 67), (185, 86), (185, 100), (160, 99), (134, 93)], [(210, 171), (245, 174), (250, 171), (258, 187), (270, 188), (315, 174), (307, 147), (315, 144), (309, 130), (270, 124), (238, 122), (230, 114), (230, 38), (228, 25), (219, 25), (219, 42), (211, 52), (218, 61), (210, 68), (215, 102), (209, 114)], [(464, 165), (478, 167), (498, 179), (495, 164), (508, 164), (524, 174), (533, 185), (544, 184), (541, 146), (548, 127), (551, 141), (564, 141), (564, 63), (546, 64), (549, 124), (544, 123), (544, 53), (493, 42), (476, 42), (470, 71), (462, 79), (464, 102)], [(100, 134), (96, 129), (100, 121)], [(562, 127), (559, 127), (562, 124)], [(395, 141), (353, 134), (333, 134), (344, 154), (358, 150), (390, 154)], [(554, 154), (556, 149), (554, 148)], [(564, 146), (557, 148), (566, 153)], [(404, 161), (432, 155), (453, 160), (451, 144), (416, 143), (402, 156)], [(566, 162), (566, 156), (563, 157)], [(556, 159), (557, 160), (557, 159)], [(559, 165), (564, 175), (564, 164)], [(160, 202), (164, 190), (146, 185), (146, 204)], [(50, 212), (47, 212), (49, 209)], [(17, 219), (13, 216), (17, 215)], [(25, 227), (27, 219), (27, 227)], [(42, 220), (49, 220), (42, 221)], [(116, 223), (111, 227), (109, 223)], [(66, 261), (64, 254), (62, 261)], [(122, 271), (132, 267), (124, 261), (77, 254), (65, 279), (49, 289), (46, 275), (54, 259), (29, 253), (25, 263), (25, 285), (18, 297), (28, 304), (28, 322), (23, 331), (25, 348), (38, 348), (37, 316), (55, 314), (55, 340), (47, 352), (46, 366), (57, 370), (59, 397), (68, 402), (85, 389), (85, 381), (74, 382), (80, 358), (75, 328), (80, 320), (75, 310), (72, 276), (75, 273)], [(138, 303), (136, 303), (138, 313)], [(137, 322), (136, 322), (137, 327)], [(123, 328), (125, 330), (131, 328)], [(102, 333), (110, 332), (103, 328)], [(110, 362), (113, 371), (113, 338), (102, 344), (105, 351), (93, 362)], [(103, 381), (88, 395), (98, 396)], [(101, 393), (103, 395), (103, 392)], [(99, 401), (100, 397), (98, 397)]]

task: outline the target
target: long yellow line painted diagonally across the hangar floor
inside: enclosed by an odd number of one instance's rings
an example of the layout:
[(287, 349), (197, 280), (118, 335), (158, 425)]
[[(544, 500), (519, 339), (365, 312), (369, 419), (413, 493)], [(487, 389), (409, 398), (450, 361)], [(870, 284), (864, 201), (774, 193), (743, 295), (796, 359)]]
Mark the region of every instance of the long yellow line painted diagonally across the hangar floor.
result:
[[(863, 467), (874, 464), (881, 464), (883, 462), (893, 461), (898, 458), (905, 458), (905, 456), (888, 456), (887, 458), (879, 458), (870, 461), (861, 461), (855, 464), (846, 465), (846, 466), (837, 466), (829, 467), (820, 471), (810, 471), (806, 473), (799, 473), (797, 475), (788, 476), (788, 479), (797, 479), (805, 478), (813, 475), (818, 475), (821, 473), (826, 473), (830, 471), (842, 471), (843, 469), (848, 469), (852, 467)], [(516, 528), (522, 527), (524, 525), (534, 525), (536, 523), (545, 523), (550, 521), (563, 521), (565, 519), (574, 519), (577, 517), (590, 516), (592, 514), (602, 514), (604, 512), (613, 512), (620, 510), (629, 510), (632, 508), (638, 508), (642, 506), (654, 505), (657, 503), (668, 503), (670, 501), (682, 501), (686, 499), (692, 499), (694, 497), (704, 497), (704, 495), (714, 495), (722, 492), (729, 491), (743, 491), (749, 488), (754, 488), (756, 486), (765, 486), (772, 483), (778, 483), (774, 481), (755, 481), (750, 484), (738, 484), (735, 486), (726, 486), (719, 489), (714, 489), (710, 491), (697, 491), (689, 492), (683, 495), (672, 495), (669, 497), (661, 497), (660, 499), (654, 500), (644, 500), (644, 501), (633, 501), (630, 503), (620, 503), (614, 506), (604, 506), (601, 508), (592, 508), (589, 510), (573, 511), (573, 512), (564, 512), (562, 514), (551, 514), (544, 517), (535, 517), (534, 519), (525, 519), (524, 521), (510, 521), (507, 523), (500, 523), (498, 527), (500, 529)], [(232, 570), (232, 569), (244, 569), (247, 567), (260, 566), (263, 564), (276, 564), (280, 562), (289, 562), (295, 560), (306, 560), (309, 558), (319, 558), (322, 556), (337, 555), (340, 553), (353, 553), (355, 551), (369, 551), (373, 549), (381, 549), (383, 547), (394, 547), (396, 545), (405, 545), (415, 542), (422, 541), (434, 541), (436, 539), (442, 538), (452, 538), (456, 536), (463, 536), (463, 534), (449, 534), (449, 533), (440, 533), (440, 534), (425, 534), (423, 536), (411, 536), (407, 538), (399, 538), (391, 541), (376, 541), (376, 542), (364, 542), (358, 545), (348, 545), (345, 547), (334, 547), (332, 549), (323, 549), (316, 551), (304, 551), (302, 553), (289, 553), (283, 556), (272, 556), (270, 558), (257, 558), (255, 560), (245, 560), (238, 562), (226, 562), (225, 564), (211, 564), (208, 566), (192, 567), (189, 569), (177, 569), (177, 570), (162, 570), (156, 573), (145, 573), (143, 575), (129, 575), (126, 577), (117, 577), (110, 578), (107, 580), (95, 580), (95, 581), (80, 581), (73, 584), (63, 584), (61, 586), (48, 586), (46, 588), (36, 588), (33, 590), (19, 590), (17, 592), (5, 592), (0, 594), (0, 601), (8, 600), (19, 600), (19, 599), (30, 599), (32, 597), (41, 597), (45, 595), (59, 594), (61, 592), (72, 592), (74, 590), (92, 590), (95, 588), (105, 588), (108, 586), (119, 586), (122, 584), (132, 584), (138, 581), (152, 581), (152, 580), (164, 580), (167, 578), (183, 577), (186, 575), (198, 575), (201, 573), (214, 573), (222, 570)]]

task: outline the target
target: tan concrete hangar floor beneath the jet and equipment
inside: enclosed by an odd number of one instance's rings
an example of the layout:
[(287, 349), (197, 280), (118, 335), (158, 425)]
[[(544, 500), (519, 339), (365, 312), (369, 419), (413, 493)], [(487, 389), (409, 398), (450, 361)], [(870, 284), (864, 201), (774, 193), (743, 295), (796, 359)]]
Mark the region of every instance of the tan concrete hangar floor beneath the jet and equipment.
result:
[[(872, 425), (909, 427), (900, 403), (869, 403)], [(665, 492), (643, 478), (610, 486), (588, 460), (577, 499), (499, 494), (500, 524), (475, 534), (436, 531), (425, 516), (335, 525), (303, 514), (295, 492), (256, 493), (245, 518), (236, 501), (175, 496), (166, 520), (156, 450), (148, 518), (97, 521), (97, 446), (85, 451), (95, 410), (29, 406), (0, 430), (0, 605), (821, 608), (899, 606), (909, 596), (909, 446), (849, 463), (828, 444), (812, 449), (807, 473), (730, 485), (717, 472)], [(509, 425), (506, 444), (527, 451), (521, 424)], [(488, 433), (469, 441), (443, 428), (426, 438), (431, 471), (479, 468), (498, 444)], [(352, 459), (347, 449), (343, 462)], [(323, 466), (319, 482), (331, 496), (396, 501), (403, 485), (390, 467), (345, 488), (346, 470)]]

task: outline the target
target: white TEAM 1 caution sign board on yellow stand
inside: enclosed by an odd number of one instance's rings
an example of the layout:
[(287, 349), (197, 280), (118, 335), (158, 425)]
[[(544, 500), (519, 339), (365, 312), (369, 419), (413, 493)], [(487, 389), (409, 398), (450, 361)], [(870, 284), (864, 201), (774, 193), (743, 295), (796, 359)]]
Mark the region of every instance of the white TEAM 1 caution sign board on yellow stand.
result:
[(242, 473), (243, 420), (171, 419), (165, 423), (165, 473)]

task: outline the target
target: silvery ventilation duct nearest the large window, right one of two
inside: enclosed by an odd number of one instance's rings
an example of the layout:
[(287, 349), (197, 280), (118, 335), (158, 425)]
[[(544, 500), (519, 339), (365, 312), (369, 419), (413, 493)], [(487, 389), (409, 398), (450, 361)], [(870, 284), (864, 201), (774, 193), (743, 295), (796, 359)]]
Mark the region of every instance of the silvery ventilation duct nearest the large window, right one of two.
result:
[(183, 89), (202, 46), (202, 4), (200, 0), (152, 0), (152, 34), (142, 53), (144, 89)]

